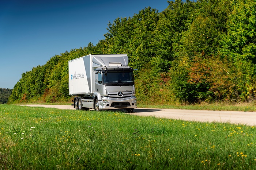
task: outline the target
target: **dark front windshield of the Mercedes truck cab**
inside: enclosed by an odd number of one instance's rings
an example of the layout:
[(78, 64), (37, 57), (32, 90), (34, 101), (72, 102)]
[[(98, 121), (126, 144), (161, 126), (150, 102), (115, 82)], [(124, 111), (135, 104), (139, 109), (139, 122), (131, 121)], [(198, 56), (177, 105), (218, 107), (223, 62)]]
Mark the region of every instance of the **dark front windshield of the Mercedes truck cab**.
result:
[(103, 83), (104, 84), (112, 84), (116, 83), (120, 85), (122, 84), (129, 84), (134, 85), (133, 80), (133, 72), (106, 72), (103, 73)]

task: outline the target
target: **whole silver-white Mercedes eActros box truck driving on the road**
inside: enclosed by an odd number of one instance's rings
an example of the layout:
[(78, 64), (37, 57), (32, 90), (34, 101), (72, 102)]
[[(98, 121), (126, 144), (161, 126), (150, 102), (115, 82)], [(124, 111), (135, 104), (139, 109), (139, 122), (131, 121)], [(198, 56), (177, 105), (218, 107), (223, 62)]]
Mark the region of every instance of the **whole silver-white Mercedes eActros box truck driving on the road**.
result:
[(79, 110), (137, 107), (127, 54), (89, 54), (68, 61), (69, 94)]

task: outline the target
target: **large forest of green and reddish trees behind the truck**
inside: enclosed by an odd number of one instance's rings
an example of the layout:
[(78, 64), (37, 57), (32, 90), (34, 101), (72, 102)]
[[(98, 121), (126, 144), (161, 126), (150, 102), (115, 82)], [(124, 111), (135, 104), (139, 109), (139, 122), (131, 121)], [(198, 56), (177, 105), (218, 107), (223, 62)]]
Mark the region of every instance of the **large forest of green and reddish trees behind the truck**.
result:
[(105, 39), (58, 54), (22, 73), (9, 103), (69, 101), (68, 61), (127, 54), (138, 104), (251, 102), (256, 99), (256, 1), (168, 1), (109, 22)]

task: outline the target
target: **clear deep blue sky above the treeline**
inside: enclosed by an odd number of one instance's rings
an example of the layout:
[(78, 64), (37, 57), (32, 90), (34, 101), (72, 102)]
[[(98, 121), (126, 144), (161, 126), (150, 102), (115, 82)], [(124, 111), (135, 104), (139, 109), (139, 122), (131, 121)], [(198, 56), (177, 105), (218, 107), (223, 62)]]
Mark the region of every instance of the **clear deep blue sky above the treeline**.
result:
[(145, 7), (162, 12), (167, 0), (5, 0), (0, 2), (0, 88), (56, 54), (96, 45), (108, 23)]

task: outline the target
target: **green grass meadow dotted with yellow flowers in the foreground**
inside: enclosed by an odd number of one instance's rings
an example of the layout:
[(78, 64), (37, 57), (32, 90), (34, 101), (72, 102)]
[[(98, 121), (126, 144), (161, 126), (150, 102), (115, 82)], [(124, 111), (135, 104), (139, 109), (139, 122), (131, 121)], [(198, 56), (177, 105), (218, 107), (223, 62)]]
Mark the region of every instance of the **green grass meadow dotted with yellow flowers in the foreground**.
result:
[(0, 169), (256, 169), (256, 128), (0, 105)]

